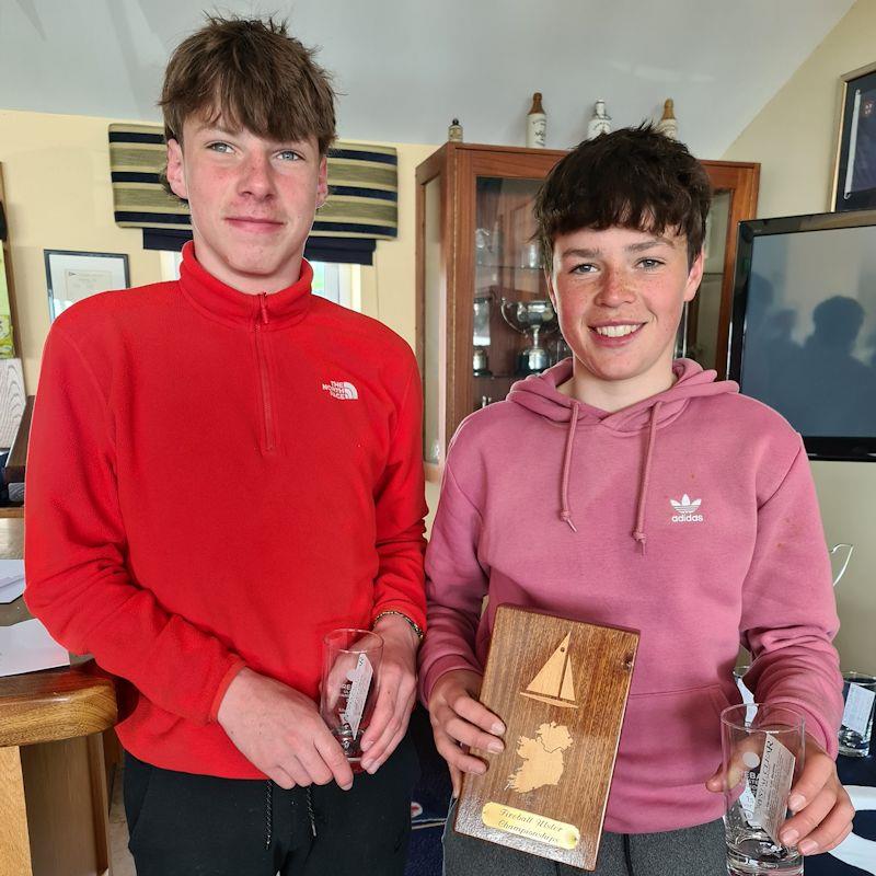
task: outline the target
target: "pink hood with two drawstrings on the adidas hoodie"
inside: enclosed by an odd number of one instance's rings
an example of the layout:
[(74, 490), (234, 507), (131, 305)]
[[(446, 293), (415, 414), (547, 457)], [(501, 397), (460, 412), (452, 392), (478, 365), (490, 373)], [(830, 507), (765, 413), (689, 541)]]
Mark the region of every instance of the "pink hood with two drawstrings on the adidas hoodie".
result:
[(541, 374), (528, 377), (511, 387), (511, 391), (508, 393), (510, 402), (519, 404), (545, 419), (567, 424), (565, 450), (560, 469), (558, 519), (573, 531), (577, 532), (578, 530), (569, 507), (568, 479), (572, 458), (575, 453), (575, 431), (578, 424), (588, 423), (601, 426), (618, 436), (635, 436), (647, 429), (647, 442), (639, 469), (636, 521), (635, 528), (631, 532), (642, 552), (645, 552), (648, 481), (658, 430), (680, 416), (691, 399), (739, 391), (739, 387), (734, 381), (716, 381), (717, 373), (715, 371), (704, 371), (691, 359), (677, 359), (672, 362), (672, 372), (676, 376), (676, 382), (668, 390), (613, 413), (572, 399), (556, 389), (572, 377), (572, 359), (564, 359)]

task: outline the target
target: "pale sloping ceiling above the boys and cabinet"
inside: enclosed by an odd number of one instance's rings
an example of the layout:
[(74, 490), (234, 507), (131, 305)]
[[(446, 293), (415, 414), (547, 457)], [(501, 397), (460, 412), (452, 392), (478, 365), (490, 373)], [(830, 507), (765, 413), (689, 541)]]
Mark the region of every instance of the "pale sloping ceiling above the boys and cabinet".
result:
[[(155, 120), (168, 55), (203, 21), (277, 12), (341, 92), (338, 129), (437, 143), (522, 145), (533, 91), (548, 146), (586, 134), (593, 101), (614, 127), (659, 117), (719, 158), (853, 0), (0, 0), (0, 108)], [(0, 146), (2, 130), (0, 130)]]

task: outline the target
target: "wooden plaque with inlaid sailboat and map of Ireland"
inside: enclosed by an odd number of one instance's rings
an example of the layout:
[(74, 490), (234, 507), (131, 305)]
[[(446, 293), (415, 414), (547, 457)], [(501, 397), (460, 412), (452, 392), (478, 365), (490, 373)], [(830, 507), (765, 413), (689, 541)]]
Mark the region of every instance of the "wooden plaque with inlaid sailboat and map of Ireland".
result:
[(454, 829), (573, 867), (596, 868), (638, 633), (499, 606), (481, 702), (505, 751), (476, 750)]

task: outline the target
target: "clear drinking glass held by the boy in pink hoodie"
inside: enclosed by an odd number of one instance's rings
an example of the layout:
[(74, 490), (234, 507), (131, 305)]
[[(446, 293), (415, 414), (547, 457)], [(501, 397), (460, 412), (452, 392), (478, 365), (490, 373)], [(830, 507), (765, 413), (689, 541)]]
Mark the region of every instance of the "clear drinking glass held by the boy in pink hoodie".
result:
[(744, 703), (721, 713), (730, 876), (799, 876), (803, 857), (782, 844), (787, 797), (804, 763), (804, 718), (786, 706)]

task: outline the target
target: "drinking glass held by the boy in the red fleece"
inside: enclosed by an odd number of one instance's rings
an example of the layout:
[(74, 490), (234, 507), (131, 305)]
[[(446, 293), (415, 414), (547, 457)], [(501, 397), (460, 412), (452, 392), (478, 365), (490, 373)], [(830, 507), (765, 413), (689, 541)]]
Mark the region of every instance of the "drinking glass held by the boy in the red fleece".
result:
[(374, 711), (382, 656), (383, 639), (368, 630), (333, 630), (323, 638), (320, 714), (354, 773), (362, 770), (361, 739)]

